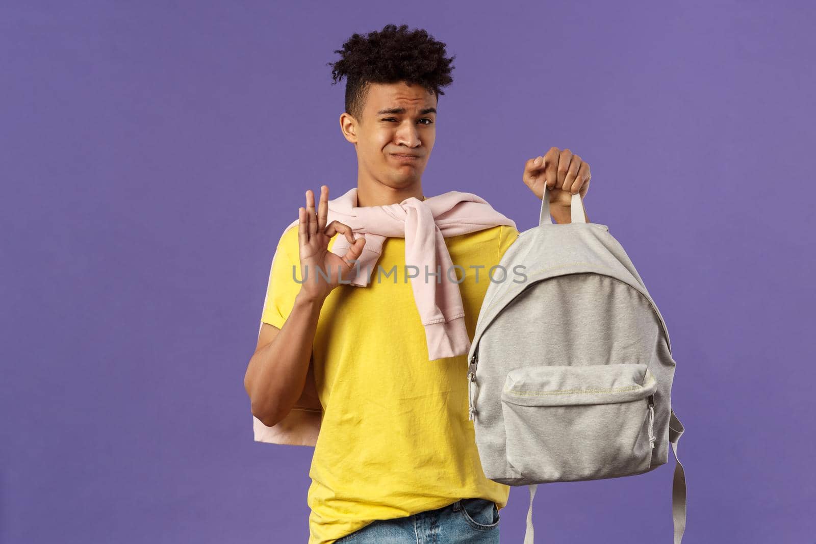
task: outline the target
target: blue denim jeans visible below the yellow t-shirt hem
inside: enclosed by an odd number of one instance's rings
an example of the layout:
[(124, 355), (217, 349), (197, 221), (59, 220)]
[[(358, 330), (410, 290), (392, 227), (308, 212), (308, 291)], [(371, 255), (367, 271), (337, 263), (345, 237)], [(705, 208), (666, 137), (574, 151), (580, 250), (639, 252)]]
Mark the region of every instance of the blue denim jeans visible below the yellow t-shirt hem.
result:
[(499, 508), (484, 498), (460, 498), (437, 510), (376, 520), (336, 544), (499, 544)]

